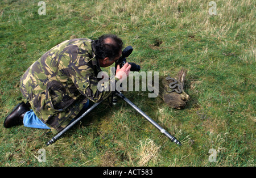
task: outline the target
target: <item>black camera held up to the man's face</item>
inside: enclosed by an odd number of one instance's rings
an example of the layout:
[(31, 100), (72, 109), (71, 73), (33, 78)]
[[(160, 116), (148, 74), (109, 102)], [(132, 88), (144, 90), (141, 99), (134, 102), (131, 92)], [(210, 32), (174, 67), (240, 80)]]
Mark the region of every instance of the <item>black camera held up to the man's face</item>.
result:
[[(117, 65), (120, 66), (120, 69), (125, 65), (126, 63), (126, 57), (130, 56), (130, 54), (133, 52), (133, 47), (127, 46), (125, 49), (122, 51), (122, 56), (115, 62), (115, 69), (117, 69)], [(141, 66), (137, 65), (136, 63), (133, 62), (128, 62), (131, 65), (131, 71), (139, 71), (141, 70)]]

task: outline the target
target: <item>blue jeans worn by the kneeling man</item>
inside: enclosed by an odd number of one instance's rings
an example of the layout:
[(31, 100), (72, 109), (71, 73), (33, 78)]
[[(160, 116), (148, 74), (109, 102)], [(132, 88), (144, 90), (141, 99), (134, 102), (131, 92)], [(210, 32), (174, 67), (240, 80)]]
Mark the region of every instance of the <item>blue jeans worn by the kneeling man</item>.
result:
[[(85, 103), (84, 105), (84, 109), (88, 108), (89, 106), (89, 100)], [(73, 122), (74, 119), (71, 121)], [(71, 123), (70, 122), (70, 123)], [(69, 123), (69, 124), (70, 124)], [(25, 113), (24, 117), (23, 117), (23, 124), (24, 126), (28, 127), (28, 128), (37, 128), (37, 129), (51, 129), (49, 128), (46, 124), (44, 124), (43, 121), (41, 121), (36, 115), (35, 113), (32, 111), (32, 109), (28, 112)]]

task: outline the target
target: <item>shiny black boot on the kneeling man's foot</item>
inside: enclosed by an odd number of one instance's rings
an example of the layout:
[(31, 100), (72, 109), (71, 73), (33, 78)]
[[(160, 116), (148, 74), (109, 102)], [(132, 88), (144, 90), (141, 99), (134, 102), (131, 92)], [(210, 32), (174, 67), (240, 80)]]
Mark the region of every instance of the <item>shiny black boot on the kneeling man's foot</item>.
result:
[(10, 115), (5, 118), (3, 126), (5, 128), (11, 128), (15, 125), (23, 124), (23, 117), (27, 111), (30, 111), (30, 108), (23, 101), (16, 105), (16, 107), (11, 111)]

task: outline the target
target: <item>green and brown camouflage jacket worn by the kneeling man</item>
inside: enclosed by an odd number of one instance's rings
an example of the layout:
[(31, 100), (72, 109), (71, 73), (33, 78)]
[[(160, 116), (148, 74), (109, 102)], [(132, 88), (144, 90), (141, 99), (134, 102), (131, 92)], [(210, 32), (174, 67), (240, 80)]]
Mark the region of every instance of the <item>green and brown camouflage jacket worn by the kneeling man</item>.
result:
[(43, 54), (20, 78), (20, 91), (53, 134), (65, 128), (88, 99), (98, 102), (111, 93), (97, 90), (101, 69), (92, 42), (63, 41)]

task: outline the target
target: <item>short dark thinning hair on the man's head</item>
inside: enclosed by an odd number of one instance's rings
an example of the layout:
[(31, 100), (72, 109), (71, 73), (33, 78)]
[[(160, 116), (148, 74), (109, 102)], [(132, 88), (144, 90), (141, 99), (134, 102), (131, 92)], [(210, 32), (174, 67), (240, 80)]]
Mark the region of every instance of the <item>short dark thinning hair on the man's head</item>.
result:
[[(105, 40), (110, 38), (111, 43), (106, 43)], [(96, 58), (103, 60), (109, 57), (110, 60), (118, 57), (122, 50), (123, 42), (116, 35), (102, 35), (97, 40), (93, 41), (93, 49)]]

